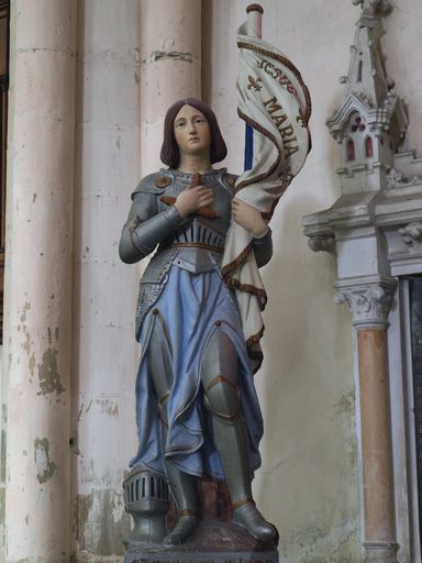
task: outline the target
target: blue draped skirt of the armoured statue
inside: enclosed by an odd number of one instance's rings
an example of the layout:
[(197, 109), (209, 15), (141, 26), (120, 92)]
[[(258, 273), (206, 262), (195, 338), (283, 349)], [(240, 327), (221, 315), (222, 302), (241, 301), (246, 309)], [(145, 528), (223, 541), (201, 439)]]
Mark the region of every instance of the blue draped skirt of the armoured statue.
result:
[(258, 445), (263, 437), (263, 419), (234, 297), (230, 295), (219, 269), (191, 274), (171, 266), (154, 308), (159, 310), (165, 322), (171, 349), (173, 386), (167, 400), (167, 437), (164, 441), (146, 354), (153, 323), (157, 319), (151, 310), (141, 330), (141, 362), (136, 378), (138, 450), (131, 461), (131, 468), (143, 467), (165, 474), (166, 456), (188, 474), (224, 478), (200, 380), (203, 353), (216, 330), (215, 322), (220, 321), (219, 330), (231, 339), (238, 356), (241, 406), (249, 440), (251, 470), (254, 472), (260, 465)]

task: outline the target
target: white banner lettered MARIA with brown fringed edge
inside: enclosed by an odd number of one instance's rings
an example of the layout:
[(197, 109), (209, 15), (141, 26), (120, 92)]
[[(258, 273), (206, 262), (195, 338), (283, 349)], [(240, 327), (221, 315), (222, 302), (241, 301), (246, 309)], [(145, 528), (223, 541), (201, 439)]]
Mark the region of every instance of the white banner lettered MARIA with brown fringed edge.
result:
[[(300, 172), (311, 147), (308, 121), (311, 99), (299, 70), (273, 45), (237, 33), (240, 70), (237, 113), (253, 130), (253, 166), (235, 184), (236, 198), (256, 207), (269, 221), (273, 211)], [(252, 250), (252, 234), (232, 222), (222, 272), (236, 291), (243, 331), (255, 371), (262, 362), (262, 310), (266, 292)]]

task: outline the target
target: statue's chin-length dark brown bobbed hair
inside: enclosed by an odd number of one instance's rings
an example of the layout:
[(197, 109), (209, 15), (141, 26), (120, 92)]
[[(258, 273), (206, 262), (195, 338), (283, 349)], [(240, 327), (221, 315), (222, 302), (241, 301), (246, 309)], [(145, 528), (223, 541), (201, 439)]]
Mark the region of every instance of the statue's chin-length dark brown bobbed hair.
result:
[(216, 118), (214, 112), (206, 106), (202, 101), (197, 100), (196, 98), (185, 98), (184, 100), (179, 100), (174, 103), (166, 113), (166, 118), (164, 120), (164, 140), (162, 146), (160, 158), (164, 164), (167, 164), (170, 168), (177, 168), (180, 161), (180, 152), (179, 147), (176, 143), (175, 139), (175, 119), (179, 113), (180, 109), (184, 106), (191, 106), (197, 109), (206, 117), (208, 124), (210, 125), (211, 132), (211, 145), (210, 145), (210, 161), (211, 164), (219, 163), (223, 158), (225, 158), (227, 154), (227, 148), (224, 143), (224, 139), (221, 134), (219, 123), (216, 122)]

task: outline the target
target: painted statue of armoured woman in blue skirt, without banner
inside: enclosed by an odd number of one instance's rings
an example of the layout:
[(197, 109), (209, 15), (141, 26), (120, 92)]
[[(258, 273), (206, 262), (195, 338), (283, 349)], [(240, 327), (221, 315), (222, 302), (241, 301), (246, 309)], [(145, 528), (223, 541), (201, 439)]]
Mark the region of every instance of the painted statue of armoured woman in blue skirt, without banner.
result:
[(196, 99), (165, 119), (162, 161), (132, 194), (120, 256), (133, 264), (155, 253), (141, 280), (136, 338), (138, 449), (132, 470), (162, 474), (178, 510), (164, 539), (184, 542), (198, 526), (198, 478), (226, 479), (233, 519), (260, 541), (275, 528), (255, 506), (262, 413), (242, 316), (221, 262), (232, 220), (251, 233), (258, 267), (273, 252), (262, 213), (234, 198), (235, 177), (213, 168), (226, 155), (214, 113)]

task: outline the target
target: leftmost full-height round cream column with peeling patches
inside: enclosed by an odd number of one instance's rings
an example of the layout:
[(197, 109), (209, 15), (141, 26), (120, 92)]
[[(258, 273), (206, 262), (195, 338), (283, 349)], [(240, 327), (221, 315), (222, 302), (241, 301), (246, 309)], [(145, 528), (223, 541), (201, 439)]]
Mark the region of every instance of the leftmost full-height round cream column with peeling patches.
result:
[(7, 562), (68, 562), (76, 2), (11, 3)]

